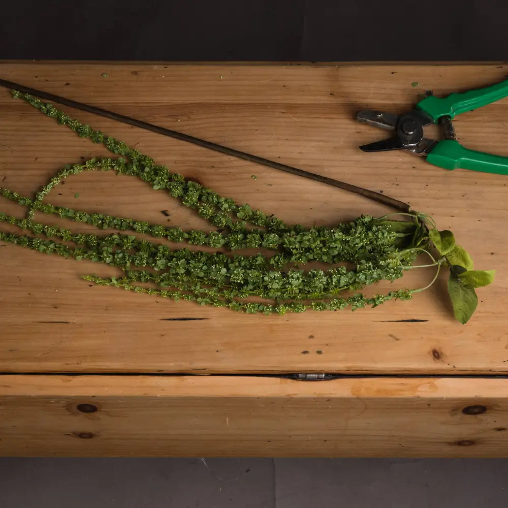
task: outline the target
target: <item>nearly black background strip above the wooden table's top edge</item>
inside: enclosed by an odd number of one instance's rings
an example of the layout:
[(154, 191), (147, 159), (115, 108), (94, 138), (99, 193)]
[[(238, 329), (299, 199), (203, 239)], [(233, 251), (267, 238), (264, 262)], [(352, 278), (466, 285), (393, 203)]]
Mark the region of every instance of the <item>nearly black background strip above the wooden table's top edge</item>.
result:
[(11, 0), (0, 58), (494, 60), (508, 2)]

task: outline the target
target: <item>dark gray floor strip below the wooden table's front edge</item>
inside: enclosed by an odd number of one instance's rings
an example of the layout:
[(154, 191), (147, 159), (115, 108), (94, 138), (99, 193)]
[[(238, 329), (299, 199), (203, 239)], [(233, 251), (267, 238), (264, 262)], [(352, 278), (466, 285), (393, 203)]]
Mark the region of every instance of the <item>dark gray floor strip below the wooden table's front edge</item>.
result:
[(0, 459), (2, 508), (506, 508), (508, 460)]

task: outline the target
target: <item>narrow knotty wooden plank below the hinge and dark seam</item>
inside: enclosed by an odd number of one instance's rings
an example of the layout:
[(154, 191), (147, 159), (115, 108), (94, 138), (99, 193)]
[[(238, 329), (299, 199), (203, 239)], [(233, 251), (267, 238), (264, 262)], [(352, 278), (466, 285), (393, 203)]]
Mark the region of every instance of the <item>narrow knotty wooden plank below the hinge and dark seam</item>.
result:
[(4, 375), (0, 455), (506, 457), (507, 388), (496, 378)]

